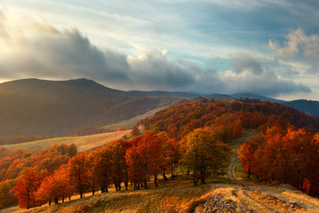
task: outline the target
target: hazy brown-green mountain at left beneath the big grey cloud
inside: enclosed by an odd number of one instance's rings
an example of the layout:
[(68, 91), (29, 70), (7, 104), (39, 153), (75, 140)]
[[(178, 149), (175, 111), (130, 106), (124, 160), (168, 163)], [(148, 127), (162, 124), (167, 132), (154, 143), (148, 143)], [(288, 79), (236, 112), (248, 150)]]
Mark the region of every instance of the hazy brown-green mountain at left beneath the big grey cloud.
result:
[(178, 99), (134, 97), (88, 79), (0, 83), (0, 137), (65, 136), (126, 120)]

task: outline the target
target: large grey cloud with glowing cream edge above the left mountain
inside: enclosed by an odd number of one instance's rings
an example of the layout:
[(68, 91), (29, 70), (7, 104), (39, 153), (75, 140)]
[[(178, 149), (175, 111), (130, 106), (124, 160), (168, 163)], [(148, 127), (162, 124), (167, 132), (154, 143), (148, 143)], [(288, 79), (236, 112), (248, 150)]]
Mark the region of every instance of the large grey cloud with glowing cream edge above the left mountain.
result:
[[(117, 81), (127, 78), (126, 58), (113, 51), (100, 51), (76, 28), (58, 29), (37, 20), (28, 20), (26, 28), (14, 20), (1, 20), (5, 35), (0, 66), (11, 77), (74, 77), (91, 76)], [(15, 32), (15, 29), (20, 32)]]

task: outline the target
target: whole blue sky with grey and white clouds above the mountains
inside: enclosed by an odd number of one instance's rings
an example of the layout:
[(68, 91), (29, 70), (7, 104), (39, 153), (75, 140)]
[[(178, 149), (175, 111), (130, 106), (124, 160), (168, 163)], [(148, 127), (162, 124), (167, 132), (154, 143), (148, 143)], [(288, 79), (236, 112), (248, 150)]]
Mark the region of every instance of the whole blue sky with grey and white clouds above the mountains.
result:
[(316, 0), (0, 0), (0, 82), (319, 99)]

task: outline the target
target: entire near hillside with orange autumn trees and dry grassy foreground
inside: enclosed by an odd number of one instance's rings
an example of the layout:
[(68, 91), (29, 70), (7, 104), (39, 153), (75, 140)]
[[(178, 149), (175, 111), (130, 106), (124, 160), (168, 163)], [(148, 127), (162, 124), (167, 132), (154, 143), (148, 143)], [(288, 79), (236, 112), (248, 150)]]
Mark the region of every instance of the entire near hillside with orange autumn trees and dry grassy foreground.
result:
[(27, 212), (318, 212), (308, 195), (319, 194), (315, 117), (267, 101), (219, 100), (182, 99), (141, 121), (145, 134), (105, 146), (108, 135), (55, 139), (90, 153), (0, 149), (0, 204), (18, 200), (34, 208)]

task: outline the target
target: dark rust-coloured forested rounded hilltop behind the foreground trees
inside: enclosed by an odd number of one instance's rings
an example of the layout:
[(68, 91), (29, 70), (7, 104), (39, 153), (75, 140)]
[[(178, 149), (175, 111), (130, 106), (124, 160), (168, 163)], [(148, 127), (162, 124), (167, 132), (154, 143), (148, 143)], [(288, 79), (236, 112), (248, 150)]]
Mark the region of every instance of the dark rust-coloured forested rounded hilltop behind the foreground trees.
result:
[[(169, 106), (147, 119), (146, 126), (154, 132), (166, 131), (171, 138), (180, 139), (195, 128), (214, 125), (227, 127), (235, 119), (240, 120), (245, 129), (259, 126), (267, 128), (267, 125), (278, 122), (285, 126), (290, 123), (297, 128), (319, 131), (319, 121), (314, 116), (283, 104), (255, 100), (220, 102), (206, 98), (184, 100), (183, 104)], [(230, 137), (228, 132), (223, 134), (224, 141)]]

